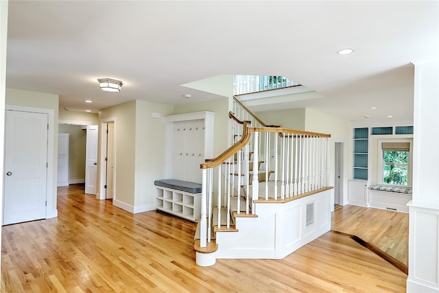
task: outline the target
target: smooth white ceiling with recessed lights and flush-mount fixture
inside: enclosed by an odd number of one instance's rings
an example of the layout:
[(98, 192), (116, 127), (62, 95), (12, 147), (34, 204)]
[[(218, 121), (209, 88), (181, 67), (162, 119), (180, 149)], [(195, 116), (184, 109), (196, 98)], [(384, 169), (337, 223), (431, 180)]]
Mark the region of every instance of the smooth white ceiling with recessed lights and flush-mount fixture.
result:
[[(335, 53), (345, 47), (354, 53)], [(58, 94), (71, 110), (216, 99), (180, 84), (251, 74), (324, 95), (292, 108), (411, 119), (411, 62), (429, 60), (439, 1), (9, 1), (6, 86)], [(122, 80), (121, 92), (97, 78)]]

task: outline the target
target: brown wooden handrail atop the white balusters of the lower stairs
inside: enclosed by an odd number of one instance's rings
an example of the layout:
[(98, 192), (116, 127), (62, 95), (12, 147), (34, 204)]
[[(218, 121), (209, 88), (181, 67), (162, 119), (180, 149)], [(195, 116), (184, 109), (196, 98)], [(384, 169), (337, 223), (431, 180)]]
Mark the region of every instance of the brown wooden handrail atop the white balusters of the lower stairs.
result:
[(313, 137), (331, 137), (331, 134), (320, 133), (320, 132), (309, 132), (302, 130), (294, 130), (288, 128), (275, 128), (275, 127), (248, 127), (250, 121), (244, 121), (244, 128), (242, 130), (242, 137), (232, 145), (230, 148), (219, 154), (215, 159), (205, 159), (203, 164), (200, 164), (201, 169), (209, 169), (213, 167), (217, 167), (221, 165), (224, 161), (226, 161), (230, 156), (237, 153), (241, 148), (244, 148), (248, 141), (250, 141), (250, 137), (252, 132), (277, 132), (278, 134), (283, 133), (291, 133), (293, 135), (289, 135), (287, 137), (297, 137), (298, 135), (309, 135)]

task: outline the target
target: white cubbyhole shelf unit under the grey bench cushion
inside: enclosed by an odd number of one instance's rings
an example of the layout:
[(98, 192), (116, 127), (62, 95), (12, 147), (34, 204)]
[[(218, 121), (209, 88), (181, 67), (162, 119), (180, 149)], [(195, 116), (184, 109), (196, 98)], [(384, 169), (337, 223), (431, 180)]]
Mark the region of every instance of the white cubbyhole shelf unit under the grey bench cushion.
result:
[(191, 194), (185, 191), (156, 186), (156, 208), (180, 218), (197, 222), (201, 211), (201, 194)]

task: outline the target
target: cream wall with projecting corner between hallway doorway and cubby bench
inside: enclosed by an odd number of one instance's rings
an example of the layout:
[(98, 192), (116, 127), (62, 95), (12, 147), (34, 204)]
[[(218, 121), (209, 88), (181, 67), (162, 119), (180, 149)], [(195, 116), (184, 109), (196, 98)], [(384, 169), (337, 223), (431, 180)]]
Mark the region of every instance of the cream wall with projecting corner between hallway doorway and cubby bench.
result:
[[(131, 213), (155, 209), (154, 180), (165, 174), (165, 115), (173, 106), (131, 101), (99, 111), (115, 119), (115, 197), (113, 204)], [(152, 113), (161, 118), (153, 118)], [(102, 129), (99, 129), (101, 137)], [(100, 145), (99, 141), (99, 158)], [(100, 165), (100, 164), (98, 164)], [(98, 168), (98, 172), (101, 172)], [(99, 183), (100, 186), (101, 183)]]

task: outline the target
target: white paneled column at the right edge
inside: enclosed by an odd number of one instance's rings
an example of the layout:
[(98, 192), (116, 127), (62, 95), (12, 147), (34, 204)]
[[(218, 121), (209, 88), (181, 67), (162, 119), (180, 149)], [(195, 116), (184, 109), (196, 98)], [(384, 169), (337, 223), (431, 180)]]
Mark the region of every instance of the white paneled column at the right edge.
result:
[(439, 62), (414, 67), (413, 200), (407, 292), (439, 292)]

